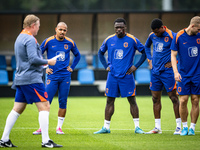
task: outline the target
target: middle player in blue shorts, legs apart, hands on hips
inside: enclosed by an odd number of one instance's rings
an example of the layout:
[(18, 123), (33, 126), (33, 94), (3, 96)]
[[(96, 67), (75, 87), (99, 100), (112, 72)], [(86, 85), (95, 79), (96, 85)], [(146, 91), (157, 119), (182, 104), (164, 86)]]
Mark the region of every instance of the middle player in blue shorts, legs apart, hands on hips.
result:
[[(139, 126), (139, 109), (135, 99), (135, 80), (133, 72), (145, 61), (146, 54), (142, 43), (133, 35), (126, 33), (126, 21), (118, 18), (114, 21), (115, 34), (107, 37), (99, 49), (98, 56), (108, 71), (104, 126), (94, 134), (110, 133), (111, 117), (114, 114), (116, 97), (127, 97), (130, 112), (135, 124), (135, 133), (143, 134)], [(142, 53), (140, 60), (133, 66), (136, 50)], [(104, 54), (108, 52), (108, 63)]]

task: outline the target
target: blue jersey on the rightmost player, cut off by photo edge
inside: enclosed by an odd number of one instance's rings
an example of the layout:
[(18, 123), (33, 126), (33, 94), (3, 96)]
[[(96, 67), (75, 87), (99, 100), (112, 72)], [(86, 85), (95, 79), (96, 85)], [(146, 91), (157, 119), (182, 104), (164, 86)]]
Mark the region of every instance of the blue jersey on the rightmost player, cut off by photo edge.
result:
[(200, 33), (189, 36), (184, 29), (179, 31), (171, 50), (178, 51), (178, 71), (182, 77), (200, 75)]

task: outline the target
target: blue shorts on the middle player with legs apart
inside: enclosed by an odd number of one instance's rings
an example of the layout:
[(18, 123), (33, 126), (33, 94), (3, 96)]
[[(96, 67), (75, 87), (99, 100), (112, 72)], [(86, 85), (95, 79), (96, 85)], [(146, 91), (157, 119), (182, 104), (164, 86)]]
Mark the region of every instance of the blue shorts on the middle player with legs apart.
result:
[(135, 80), (133, 74), (124, 78), (116, 78), (108, 72), (105, 95), (108, 97), (135, 96)]

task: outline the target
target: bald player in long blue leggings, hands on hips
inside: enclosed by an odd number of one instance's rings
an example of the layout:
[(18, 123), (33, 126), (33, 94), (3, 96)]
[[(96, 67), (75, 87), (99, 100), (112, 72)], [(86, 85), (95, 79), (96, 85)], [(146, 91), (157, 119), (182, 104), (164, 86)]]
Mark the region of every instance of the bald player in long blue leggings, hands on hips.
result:
[[(59, 22), (55, 28), (56, 35), (45, 39), (41, 44), (42, 53), (46, 52), (47, 58), (57, 59), (55, 66), (49, 66), (46, 69), (46, 90), (49, 95), (50, 104), (58, 91), (59, 110), (56, 134), (64, 134), (62, 125), (67, 111), (71, 73), (80, 60), (80, 53), (76, 43), (66, 36), (67, 29), (66, 23)], [(71, 66), (69, 66), (70, 52), (74, 55)], [(41, 128), (33, 132), (33, 134), (41, 134)]]

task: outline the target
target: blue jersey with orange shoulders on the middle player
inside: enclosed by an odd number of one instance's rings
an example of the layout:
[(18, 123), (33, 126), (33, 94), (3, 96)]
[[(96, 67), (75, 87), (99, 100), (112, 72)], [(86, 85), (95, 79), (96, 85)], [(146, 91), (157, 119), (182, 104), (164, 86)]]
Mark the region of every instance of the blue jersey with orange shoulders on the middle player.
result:
[(108, 51), (108, 66), (111, 74), (123, 78), (128, 69), (133, 65), (136, 50), (144, 50), (142, 43), (133, 35), (127, 33), (125, 37), (118, 38), (116, 34), (107, 37), (99, 51)]

